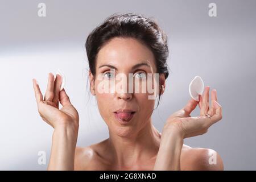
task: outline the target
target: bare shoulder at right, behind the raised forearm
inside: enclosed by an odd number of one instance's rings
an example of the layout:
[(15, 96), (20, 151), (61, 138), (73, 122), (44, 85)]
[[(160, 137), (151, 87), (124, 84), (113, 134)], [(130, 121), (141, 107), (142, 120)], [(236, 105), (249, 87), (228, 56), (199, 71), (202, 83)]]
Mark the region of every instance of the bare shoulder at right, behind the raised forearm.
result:
[(210, 148), (192, 148), (184, 144), (180, 161), (181, 170), (224, 170), (221, 156)]

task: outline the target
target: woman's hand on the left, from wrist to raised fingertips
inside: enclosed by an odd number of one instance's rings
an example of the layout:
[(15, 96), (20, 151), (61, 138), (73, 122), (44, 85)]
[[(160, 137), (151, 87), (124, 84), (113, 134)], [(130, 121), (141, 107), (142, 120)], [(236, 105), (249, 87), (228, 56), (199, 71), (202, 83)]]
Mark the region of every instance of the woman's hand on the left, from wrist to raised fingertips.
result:
[[(38, 105), (38, 112), (43, 121), (47, 122), (54, 129), (57, 127), (71, 126), (78, 130), (79, 114), (71, 104), (65, 90), (63, 89), (60, 91), (62, 77), (57, 74), (56, 78), (54, 78), (52, 73), (48, 74), (48, 84), (44, 98), (38, 82), (35, 79), (32, 81)], [(60, 104), (63, 105), (61, 109), (59, 109), (59, 101)]]

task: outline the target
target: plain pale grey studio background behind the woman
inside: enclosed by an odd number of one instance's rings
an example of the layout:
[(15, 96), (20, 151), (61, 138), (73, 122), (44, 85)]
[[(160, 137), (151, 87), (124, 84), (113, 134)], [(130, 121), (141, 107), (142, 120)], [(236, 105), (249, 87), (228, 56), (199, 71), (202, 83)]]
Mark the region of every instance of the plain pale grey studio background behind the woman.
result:
[[(47, 16), (39, 18), (38, 3)], [(217, 17), (208, 16), (210, 2)], [(192, 147), (216, 150), (226, 170), (256, 169), (256, 1), (0, 1), (0, 169), (47, 168), (50, 126), (39, 117), (32, 89), (46, 90), (48, 72), (67, 77), (66, 90), (80, 114), (77, 146), (108, 138), (96, 101), (86, 90), (84, 43), (113, 13), (154, 16), (168, 34), (171, 68), (167, 89), (152, 115), (162, 131), (168, 115), (189, 100), (188, 85), (199, 75), (217, 89), (222, 121), (207, 134), (185, 139)], [(199, 115), (197, 108), (193, 115)], [(38, 164), (46, 151), (47, 164)]]

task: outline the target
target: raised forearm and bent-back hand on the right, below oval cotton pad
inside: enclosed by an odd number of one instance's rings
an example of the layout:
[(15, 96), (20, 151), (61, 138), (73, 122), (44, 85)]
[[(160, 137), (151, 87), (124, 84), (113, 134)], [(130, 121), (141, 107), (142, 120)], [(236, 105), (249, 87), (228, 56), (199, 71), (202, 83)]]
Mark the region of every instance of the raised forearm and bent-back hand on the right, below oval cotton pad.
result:
[[(180, 170), (180, 155), (183, 139), (203, 135), (208, 128), (222, 119), (222, 107), (217, 102), (217, 92), (212, 90), (209, 107), (209, 86), (204, 89), (199, 102), (191, 99), (181, 110), (172, 114), (164, 125), (154, 170)], [(200, 116), (191, 117), (191, 112), (200, 107)]]

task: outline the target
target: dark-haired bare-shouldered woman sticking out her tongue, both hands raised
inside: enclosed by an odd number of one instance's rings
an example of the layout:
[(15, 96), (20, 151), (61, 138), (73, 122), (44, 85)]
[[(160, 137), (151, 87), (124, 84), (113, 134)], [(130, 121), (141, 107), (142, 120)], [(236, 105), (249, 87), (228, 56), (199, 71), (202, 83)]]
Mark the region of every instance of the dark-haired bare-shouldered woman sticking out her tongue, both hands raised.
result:
[[(148, 74), (158, 74), (157, 83), (153, 81), (151, 86), (159, 95), (159, 104), (168, 77), (168, 46), (166, 34), (154, 20), (137, 14), (114, 14), (90, 33), (86, 52), (90, 92), (108, 125), (109, 138), (92, 146), (76, 147), (79, 114), (65, 89), (60, 90), (61, 76), (54, 78), (49, 73), (44, 98), (33, 79), (40, 116), (54, 128), (49, 170), (223, 169), (216, 151), (183, 144), (184, 138), (206, 133), (222, 118), (216, 90), (211, 91), (210, 106), (210, 88), (206, 86), (199, 102), (191, 99), (183, 109), (170, 115), (162, 134), (152, 125), (155, 100), (149, 99), (149, 92), (100, 92), (102, 83), (107, 85), (107, 91), (113, 88), (108, 86), (116, 80), (115, 73), (133, 73), (133, 80), (141, 83), (139, 89), (144, 81), (150, 80)], [(114, 88), (117, 84), (114, 83)], [(122, 91), (125, 86), (121, 86)], [(63, 105), (61, 109), (59, 102)], [(200, 116), (191, 117), (189, 114), (197, 105)]]

